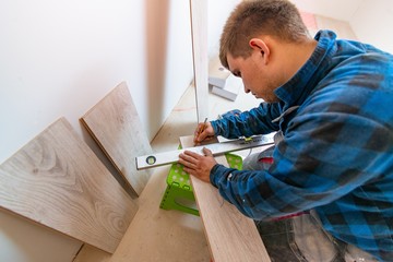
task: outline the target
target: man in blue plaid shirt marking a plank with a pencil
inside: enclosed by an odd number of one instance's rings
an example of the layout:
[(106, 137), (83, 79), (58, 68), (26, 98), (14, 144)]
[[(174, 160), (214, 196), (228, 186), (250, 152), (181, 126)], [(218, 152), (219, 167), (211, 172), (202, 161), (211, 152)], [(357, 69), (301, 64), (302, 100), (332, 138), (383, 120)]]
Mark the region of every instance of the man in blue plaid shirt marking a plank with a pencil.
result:
[(194, 141), (277, 131), (276, 145), (243, 170), (184, 152), (184, 170), (261, 221), (273, 261), (393, 261), (393, 56), (330, 31), (311, 38), (294, 4), (260, 0), (230, 14), (219, 58), (264, 102)]

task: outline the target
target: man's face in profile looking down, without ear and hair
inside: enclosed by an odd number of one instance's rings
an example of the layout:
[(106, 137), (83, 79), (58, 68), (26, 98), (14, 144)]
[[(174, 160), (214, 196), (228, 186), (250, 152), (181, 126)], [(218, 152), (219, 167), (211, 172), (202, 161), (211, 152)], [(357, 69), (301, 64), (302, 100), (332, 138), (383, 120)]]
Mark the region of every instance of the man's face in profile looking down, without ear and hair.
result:
[(270, 68), (265, 64), (261, 52), (253, 51), (246, 59), (242, 57), (234, 58), (228, 53), (227, 61), (230, 72), (235, 76), (241, 78), (246, 93), (251, 93), (257, 98), (262, 98), (267, 103), (278, 100), (274, 90), (279, 84), (275, 83), (274, 75), (270, 73)]

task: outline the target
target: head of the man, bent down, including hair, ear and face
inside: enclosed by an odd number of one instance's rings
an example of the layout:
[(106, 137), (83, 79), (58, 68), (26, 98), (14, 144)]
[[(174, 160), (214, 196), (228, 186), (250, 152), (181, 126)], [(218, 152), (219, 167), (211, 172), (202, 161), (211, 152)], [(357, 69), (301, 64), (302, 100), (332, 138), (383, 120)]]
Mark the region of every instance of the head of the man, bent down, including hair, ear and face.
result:
[(277, 102), (274, 90), (287, 82), (314, 48), (296, 7), (287, 0), (246, 0), (230, 14), (219, 59), (242, 79), (246, 93)]

